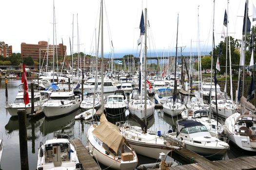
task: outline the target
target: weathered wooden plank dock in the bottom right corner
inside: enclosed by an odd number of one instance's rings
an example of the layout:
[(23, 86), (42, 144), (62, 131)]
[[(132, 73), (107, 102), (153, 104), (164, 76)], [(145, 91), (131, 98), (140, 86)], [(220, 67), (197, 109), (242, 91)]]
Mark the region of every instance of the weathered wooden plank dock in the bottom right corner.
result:
[(195, 163), (180, 165), (170, 167), (169, 170), (256, 170), (256, 156), (209, 161), (208, 164)]

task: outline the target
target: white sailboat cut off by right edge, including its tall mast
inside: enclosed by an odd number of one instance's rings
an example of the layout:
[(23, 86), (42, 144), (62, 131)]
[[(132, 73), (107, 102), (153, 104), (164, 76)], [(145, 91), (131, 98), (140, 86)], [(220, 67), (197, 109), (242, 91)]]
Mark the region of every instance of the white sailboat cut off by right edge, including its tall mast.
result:
[[(243, 22), (243, 39), (246, 42), (246, 34), (250, 33), (251, 22), (248, 17), (248, 0), (245, 2), (245, 11), (244, 11), (244, 22)], [(249, 29), (248, 29), (249, 28)], [(243, 39), (242, 44), (243, 46)], [(244, 48), (241, 47), (241, 57), (240, 57), (240, 66), (243, 67), (243, 80), (245, 80), (245, 52), (246, 52), (246, 43), (244, 43)], [(253, 58), (253, 52), (252, 52)], [(239, 68), (240, 75), (240, 68)], [(238, 77), (240, 79), (240, 76)], [(239, 82), (240, 80), (238, 80)], [(253, 82), (252, 82), (253, 83)], [(238, 83), (238, 90), (240, 90)], [(244, 81), (243, 86), (244, 87)], [(242, 88), (242, 97), (237, 95), (237, 99), (241, 100), (242, 111), (241, 113), (236, 112), (229, 116), (225, 120), (225, 131), (229, 139), (234, 142), (239, 148), (246, 151), (256, 152), (256, 115), (255, 106), (253, 106), (250, 102), (248, 103), (246, 98), (244, 97), (244, 88)], [(250, 109), (247, 106), (253, 106), (253, 109)]]

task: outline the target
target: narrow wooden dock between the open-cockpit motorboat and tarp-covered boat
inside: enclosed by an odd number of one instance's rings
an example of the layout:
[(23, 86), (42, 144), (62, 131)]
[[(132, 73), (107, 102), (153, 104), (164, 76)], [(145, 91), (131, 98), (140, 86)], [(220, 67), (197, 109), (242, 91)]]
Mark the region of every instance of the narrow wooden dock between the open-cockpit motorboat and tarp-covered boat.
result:
[(84, 170), (101, 170), (79, 139), (70, 140), (70, 143), (77, 147), (78, 159)]

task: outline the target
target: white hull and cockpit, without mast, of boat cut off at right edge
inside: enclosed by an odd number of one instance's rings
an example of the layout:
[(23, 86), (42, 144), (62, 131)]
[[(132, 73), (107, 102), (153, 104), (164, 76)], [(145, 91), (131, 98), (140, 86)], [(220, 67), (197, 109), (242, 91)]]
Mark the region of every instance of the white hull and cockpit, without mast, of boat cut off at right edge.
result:
[(225, 120), (228, 138), (239, 148), (256, 152), (256, 115), (249, 112), (241, 115), (236, 112)]

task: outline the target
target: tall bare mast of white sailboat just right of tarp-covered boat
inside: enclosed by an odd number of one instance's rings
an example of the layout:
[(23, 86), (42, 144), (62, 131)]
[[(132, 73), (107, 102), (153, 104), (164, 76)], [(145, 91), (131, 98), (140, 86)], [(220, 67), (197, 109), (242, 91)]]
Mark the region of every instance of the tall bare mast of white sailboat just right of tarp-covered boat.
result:
[[(145, 125), (147, 127), (147, 8), (145, 8), (145, 49), (144, 49), (144, 85), (145, 85), (145, 97), (144, 97), (144, 112), (145, 112)], [(141, 89), (142, 90), (142, 89)], [(145, 133), (147, 130), (145, 130)]]

